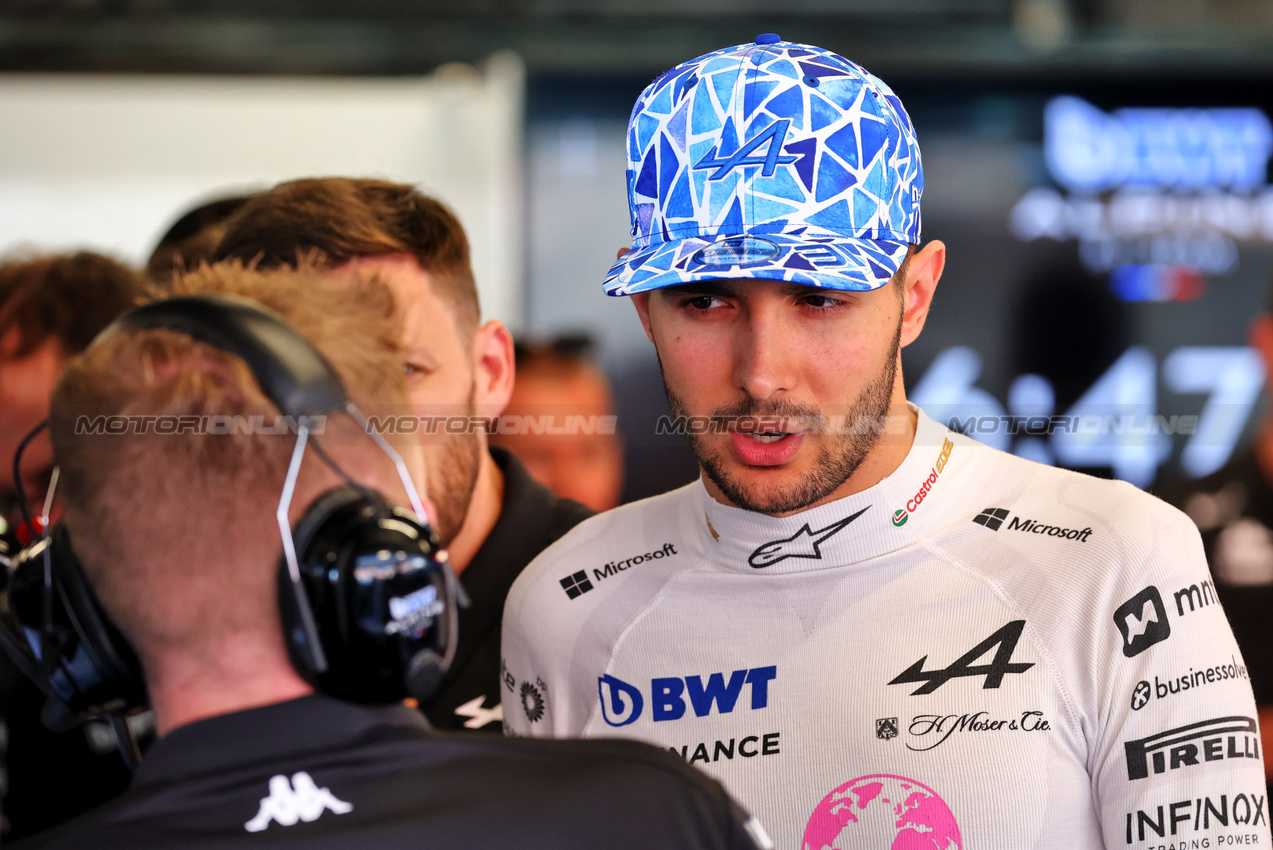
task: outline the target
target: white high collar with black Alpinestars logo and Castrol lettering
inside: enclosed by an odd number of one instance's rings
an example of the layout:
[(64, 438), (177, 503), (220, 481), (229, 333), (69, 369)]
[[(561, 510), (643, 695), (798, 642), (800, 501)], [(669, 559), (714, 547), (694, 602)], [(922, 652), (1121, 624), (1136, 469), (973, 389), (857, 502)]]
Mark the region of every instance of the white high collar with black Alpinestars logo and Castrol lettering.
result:
[(925, 536), (925, 514), (950, 490), (964, 440), (918, 407), (915, 438), (901, 464), (877, 485), (844, 499), (770, 517), (722, 505), (695, 485), (699, 538), (713, 564), (751, 574), (803, 573), (857, 564)]

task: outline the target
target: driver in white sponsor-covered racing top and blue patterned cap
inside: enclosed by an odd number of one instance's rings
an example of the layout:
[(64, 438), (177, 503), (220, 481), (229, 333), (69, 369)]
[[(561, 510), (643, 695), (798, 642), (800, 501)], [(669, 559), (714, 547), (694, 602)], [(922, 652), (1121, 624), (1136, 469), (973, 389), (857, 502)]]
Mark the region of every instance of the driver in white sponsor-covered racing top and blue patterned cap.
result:
[(945, 247), (892, 92), (761, 36), (652, 83), (628, 146), (605, 288), (703, 477), (517, 580), (508, 730), (665, 746), (778, 847), (1269, 847), (1193, 524), (905, 401)]

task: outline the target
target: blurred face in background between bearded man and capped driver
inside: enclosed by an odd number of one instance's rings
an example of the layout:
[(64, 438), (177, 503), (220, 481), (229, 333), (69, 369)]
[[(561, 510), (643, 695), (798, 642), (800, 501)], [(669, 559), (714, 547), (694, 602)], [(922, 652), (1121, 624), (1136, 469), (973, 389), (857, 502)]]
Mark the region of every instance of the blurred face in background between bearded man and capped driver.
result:
[(518, 342), (517, 383), (491, 444), (516, 454), (559, 499), (602, 512), (619, 504), (624, 445), (610, 382), (591, 355), (586, 336)]

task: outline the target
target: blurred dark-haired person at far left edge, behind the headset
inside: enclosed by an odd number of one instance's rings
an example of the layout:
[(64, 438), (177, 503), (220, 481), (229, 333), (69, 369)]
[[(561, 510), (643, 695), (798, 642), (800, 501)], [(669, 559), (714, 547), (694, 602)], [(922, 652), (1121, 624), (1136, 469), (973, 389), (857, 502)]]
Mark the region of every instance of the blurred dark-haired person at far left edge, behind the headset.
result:
[[(10, 552), (32, 540), (32, 529), (22, 527), (13, 475), (18, 444), (48, 416), (48, 398), (66, 361), (132, 307), (143, 289), (132, 268), (90, 252), (0, 263), (0, 546)], [(42, 433), (28, 445), (20, 471), (36, 515), (52, 467), (52, 445)], [(129, 783), (113, 743), (97, 746), (97, 738), (87, 737), (93, 729), (46, 729), (39, 719), (43, 701), (0, 654), (0, 715), (8, 727), (6, 840), (60, 823)]]

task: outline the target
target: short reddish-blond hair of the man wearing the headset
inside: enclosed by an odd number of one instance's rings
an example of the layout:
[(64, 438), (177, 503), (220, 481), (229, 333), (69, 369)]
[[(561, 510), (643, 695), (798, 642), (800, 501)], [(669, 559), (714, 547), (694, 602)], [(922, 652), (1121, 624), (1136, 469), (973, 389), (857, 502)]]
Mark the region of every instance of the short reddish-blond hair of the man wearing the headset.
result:
[[(325, 270), (260, 272), (238, 262), (204, 266), (172, 294), (232, 294), (280, 313), (327, 358), (350, 398), (406, 403), (401, 327), (390, 289), (377, 280), (332, 279)], [(136, 433), (144, 416), (167, 421), (275, 425), (278, 411), (236, 355), (173, 331), (117, 332), (67, 364), (53, 392), (50, 428), (61, 467), (59, 494), (75, 551), (94, 589), (143, 660), (153, 648), (207, 649), (232, 632), (278, 627), (281, 541), (274, 513), (295, 435), (211, 428)], [(111, 435), (78, 422), (129, 416)], [(281, 429), (280, 429), (281, 430)], [(162, 434), (162, 433), (160, 433)], [(321, 440), (351, 472), (378, 450), (344, 414)], [(393, 438), (401, 439), (401, 438)], [(383, 456), (379, 456), (383, 458)], [(365, 466), (363, 467), (365, 468)], [(328, 481), (307, 453), (294, 505)]]

